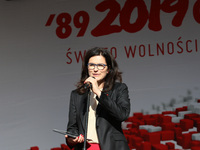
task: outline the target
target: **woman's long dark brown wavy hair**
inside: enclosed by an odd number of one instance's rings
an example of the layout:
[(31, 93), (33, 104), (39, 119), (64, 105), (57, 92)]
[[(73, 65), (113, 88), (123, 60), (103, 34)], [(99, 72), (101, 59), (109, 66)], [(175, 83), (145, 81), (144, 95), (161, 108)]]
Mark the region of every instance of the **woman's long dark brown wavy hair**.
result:
[(107, 92), (112, 89), (114, 83), (116, 80), (119, 82), (122, 82), (122, 72), (119, 71), (118, 64), (113, 58), (113, 56), (110, 54), (108, 50), (105, 48), (95, 47), (90, 50), (88, 50), (85, 54), (83, 63), (82, 63), (82, 72), (81, 72), (81, 78), (80, 81), (77, 83), (77, 90), (80, 94), (83, 94), (86, 92), (86, 89), (82, 88), (84, 85), (84, 81), (89, 77), (88, 74), (88, 68), (87, 64), (91, 57), (93, 56), (103, 56), (106, 60), (109, 72), (105, 77), (105, 84), (103, 91)]

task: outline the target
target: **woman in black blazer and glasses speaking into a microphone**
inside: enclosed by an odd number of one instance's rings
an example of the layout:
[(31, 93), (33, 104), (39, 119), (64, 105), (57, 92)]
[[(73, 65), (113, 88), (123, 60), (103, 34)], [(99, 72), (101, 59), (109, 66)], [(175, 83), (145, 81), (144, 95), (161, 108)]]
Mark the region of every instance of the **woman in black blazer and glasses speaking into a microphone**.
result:
[[(116, 82), (116, 81), (119, 82)], [(104, 48), (87, 51), (81, 79), (72, 91), (67, 131), (78, 137), (66, 137), (66, 143), (75, 150), (82, 150), (85, 131), (85, 112), (88, 90), (91, 96), (88, 115), (88, 150), (129, 150), (121, 123), (129, 117), (130, 100), (128, 88), (122, 82), (117, 62)]]

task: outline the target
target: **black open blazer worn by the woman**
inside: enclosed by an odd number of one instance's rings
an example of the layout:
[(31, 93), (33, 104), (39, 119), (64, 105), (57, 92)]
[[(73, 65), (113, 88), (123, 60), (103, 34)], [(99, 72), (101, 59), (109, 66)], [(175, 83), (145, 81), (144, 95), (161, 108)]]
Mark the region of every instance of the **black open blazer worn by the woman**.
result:
[[(87, 96), (88, 93), (80, 95), (76, 90), (71, 92), (68, 132), (84, 135)], [(99, 103), (96, 109), (96, 129), (101, 150), (129, 150), (121, 128), (121, 122), (126, 120), (130, 113), (126, 84), (115, 83), (112, 90), (102, 92), (97, 100)], [(83, 143), (77, 144), (75, 150), (82, 150), (82, 147)]]

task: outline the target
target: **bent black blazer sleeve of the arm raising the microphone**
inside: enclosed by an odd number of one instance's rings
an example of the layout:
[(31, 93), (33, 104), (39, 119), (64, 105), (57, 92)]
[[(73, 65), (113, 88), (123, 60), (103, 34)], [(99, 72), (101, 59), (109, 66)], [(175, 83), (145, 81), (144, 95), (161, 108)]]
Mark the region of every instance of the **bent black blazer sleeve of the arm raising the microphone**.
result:
[(112, 92), (102, 92), (97, 100), (116, 120), (124, 121), (129, 117), (130, 99), (126, 84), (116, 83)]

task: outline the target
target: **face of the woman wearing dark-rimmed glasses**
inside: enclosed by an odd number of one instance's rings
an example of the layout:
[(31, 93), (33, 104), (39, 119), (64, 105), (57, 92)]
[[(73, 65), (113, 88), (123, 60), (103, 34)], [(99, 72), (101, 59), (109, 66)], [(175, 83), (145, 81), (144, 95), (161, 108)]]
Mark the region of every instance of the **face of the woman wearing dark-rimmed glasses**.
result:
[(95, 77), (97, 81), (103, 81), (108, 73), (106, 59), (101, 56), (93, 56), (88, 61), (88, 74), (90, 77)]

